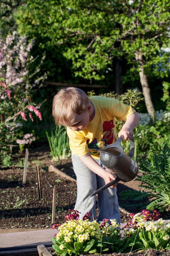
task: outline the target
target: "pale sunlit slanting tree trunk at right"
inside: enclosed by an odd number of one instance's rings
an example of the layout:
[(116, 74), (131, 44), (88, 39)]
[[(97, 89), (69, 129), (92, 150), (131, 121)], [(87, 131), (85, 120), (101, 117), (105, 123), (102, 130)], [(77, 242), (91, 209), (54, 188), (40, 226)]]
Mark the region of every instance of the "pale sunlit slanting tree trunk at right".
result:
[(155, 122), (155, 109), (154, 109), (153, 102), (151, 99), (151, 90), (149, 88), (147, 76), (146, 76), (146, 74), (144, 74), (142, 54), (140, 54), (139, 52), (135, 53), (135, 59), (139, 65), (140, 83), (142, 85), (142, 93), (145, 98), (147, 112), (151, 118), (151, 122), (154, 123)]

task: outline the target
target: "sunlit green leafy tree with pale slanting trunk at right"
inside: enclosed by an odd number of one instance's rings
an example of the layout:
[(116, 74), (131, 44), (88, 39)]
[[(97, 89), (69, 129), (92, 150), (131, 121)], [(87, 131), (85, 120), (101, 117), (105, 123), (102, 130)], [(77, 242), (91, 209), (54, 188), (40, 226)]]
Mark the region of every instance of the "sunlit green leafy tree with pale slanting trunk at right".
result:
[(64, 45), (62, 54), (71, 60), (75, 76), (102, 80), (106, 72), (111, 74), (114, 58), (123, 56), (129, 80), (140, 77), (147, 111), (154, 118), (148, 77), (168, 76), (169, 54), (163, 48), (169, 46), (169, 8), (168, 0), (34, 0), (27, 5), (29, 21), (23, 22), (21, 15), (18, 20), (23, 30), (30, 26), (28, 31), (48, 37), (49, 44)]

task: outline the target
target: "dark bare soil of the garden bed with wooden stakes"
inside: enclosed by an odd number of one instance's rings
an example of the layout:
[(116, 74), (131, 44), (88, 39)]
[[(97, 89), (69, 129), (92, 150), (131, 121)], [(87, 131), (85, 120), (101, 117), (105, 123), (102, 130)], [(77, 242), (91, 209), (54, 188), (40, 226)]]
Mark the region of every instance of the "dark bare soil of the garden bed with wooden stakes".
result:
[[(30, 148), (26, 185), (23, 185), (24, 157), (25, 151), (22, 153), (15, 152), (12, 156), (12, 165), (8, 168), (0, 169), (0, 229), (51, 228), (54, 185), (57, 187), (55, 223), (63, 223), (65, 215), (70, 213), (76, 202), (76, 182), (49, 172), (48, 166), (49, 164), (55, 165), (59, 170), (76, 179), (71, 159), (53, 162), (50, 148), (47, 144)], [(37, 192), (36, 166), (40, 170), (42, 190), (42, 199), (40, 200)], [(117, 185), (121, 223), (126, 223), (128, 213), (139, 212), (141, 209), (126, 207), (128, 204), (134, 204), (135, 201), (126, 200), (125, 202), (121, 199), (119, 193), (128, 189), (139, 190), (138, 185), (139, 182), (135, 180), (127, 183), (119, 182)], [(161, 213), (161, 217), (164, 219), (170, 219), (169, 216), (168, 209)], [(165, 254), (170, 255), (168, 252), (147, 250), (134, 252), (133, 254), (112, 253), (112, 256), (165, 256)], [(103, 254), (103, 256), (105, 255), (108, 256), (108, 254)]]

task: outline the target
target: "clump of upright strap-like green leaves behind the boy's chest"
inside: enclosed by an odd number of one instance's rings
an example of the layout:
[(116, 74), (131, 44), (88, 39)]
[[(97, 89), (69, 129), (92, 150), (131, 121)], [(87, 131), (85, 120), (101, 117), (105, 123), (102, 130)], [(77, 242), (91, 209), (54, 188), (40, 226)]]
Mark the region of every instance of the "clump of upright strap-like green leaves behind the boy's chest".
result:
[(55, 130), (51, 131), (51, 136), (47, 131), (45, 133), (50, 145), (50, 154), (54, 161), (67, 159), (71, 155), (71, 152), (66, 127), (62, 127), (62, 125), (56, 126)]

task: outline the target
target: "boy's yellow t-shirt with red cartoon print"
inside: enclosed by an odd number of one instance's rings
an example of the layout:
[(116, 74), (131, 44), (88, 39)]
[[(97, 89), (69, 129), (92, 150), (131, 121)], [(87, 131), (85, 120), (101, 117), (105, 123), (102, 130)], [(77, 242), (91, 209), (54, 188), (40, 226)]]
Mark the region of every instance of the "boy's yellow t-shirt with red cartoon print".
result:
[(67, 127), (67, 134), (73, 155), (83, 156), (90, 152), (94, 159), (99, 159), (98, 150), (116, 142), (114, 118), (126, 121), (135, 110), (112, 98), (93, 96), (89, 99), (95, 109), (93, 120), (83, 131), (73, 131)]

